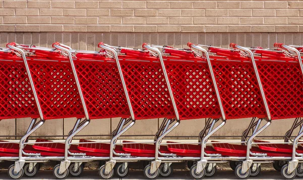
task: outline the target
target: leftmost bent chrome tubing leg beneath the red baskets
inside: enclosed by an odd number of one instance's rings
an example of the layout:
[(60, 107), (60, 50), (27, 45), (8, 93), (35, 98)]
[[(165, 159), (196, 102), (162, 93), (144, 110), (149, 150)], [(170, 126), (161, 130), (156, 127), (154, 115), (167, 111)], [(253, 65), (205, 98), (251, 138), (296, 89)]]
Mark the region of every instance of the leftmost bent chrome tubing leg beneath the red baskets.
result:
[[(32, 123), (30, 124), (30, 126), (33, 126), (33, 122), (35, 122), (36, 119), (32, 119)], [(23, 159), (23, 148), (24, 148), (24, 143), (25, 141), (28, 139), (28, 137), (35, 132), (37, 129), (39, 129), (43, 124), (44, 124), (44, 120), (40, 120), (38, 123), (35, 124), (35, 126), (28, 131), (21, 139), (19, 142), (19, 160), (15, 162), (15, 173), (19, 173), (20, 170), (23, 168), (24, 164), (25, 164), (25, 160)]]

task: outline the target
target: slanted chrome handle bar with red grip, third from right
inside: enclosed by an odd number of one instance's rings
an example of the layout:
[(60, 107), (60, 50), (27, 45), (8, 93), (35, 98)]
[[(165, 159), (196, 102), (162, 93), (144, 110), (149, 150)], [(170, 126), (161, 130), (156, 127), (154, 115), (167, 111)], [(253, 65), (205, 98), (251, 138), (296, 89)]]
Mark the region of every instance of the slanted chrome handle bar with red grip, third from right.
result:
[(211, 78), (212, 78), (212, 81), (213, 81), (213, 84), (214, 84), (216, 96), (217, 96), (217, 99), (218, 99), (218, 104), (219, 104), (219, 107), (220, 107), (220, 112), (221, 112), (223, 121), (225, 121), (226, 120), (226, 114), (225, 114), (225, 111), (224, 111), (224, 107), (223, 107), (223, 103), (222, 103), (222, 100), (221, 100), (221, 97), (220, 97), (220, 92), (219, 92), (218, 84), (217, 84), (217, 81), (216, 81), (216, 78), (215, 78), (213, 66), (212, 66), (211, 59), (210, 59), (208, 51), (205, 50), (204, 48), (202, 48), (201, 46), (195, 45), (195, 44), (193, 44), (191, 42), (188, 42), (187, 46), (190, 47), (190, 48), (194, 48), (196, 50), (199, 50), (199, 51), (205, 53), (205, 56), (206, 56), (206, 59), (207, 59), (207, 64), (208, 64), (208, 67), (209, 67), (209, 70), (210, 70), (210, 73), (211, 73)]

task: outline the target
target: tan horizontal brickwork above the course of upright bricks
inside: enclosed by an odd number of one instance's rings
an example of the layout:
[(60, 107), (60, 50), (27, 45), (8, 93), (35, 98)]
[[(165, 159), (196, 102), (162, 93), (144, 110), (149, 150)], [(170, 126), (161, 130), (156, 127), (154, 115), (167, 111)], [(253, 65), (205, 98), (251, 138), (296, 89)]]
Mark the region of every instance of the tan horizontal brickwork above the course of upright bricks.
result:
[(0, 1), (6, 32), (302, 32), (302, 1)]

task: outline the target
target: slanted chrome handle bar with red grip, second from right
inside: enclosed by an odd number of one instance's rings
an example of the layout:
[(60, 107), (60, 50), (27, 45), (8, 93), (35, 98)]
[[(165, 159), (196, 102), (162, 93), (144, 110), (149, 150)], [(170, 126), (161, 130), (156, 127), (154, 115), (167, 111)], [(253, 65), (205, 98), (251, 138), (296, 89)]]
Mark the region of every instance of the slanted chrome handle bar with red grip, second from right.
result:
[(267, 114), (267, 118), (268, 118), (267, 120), (271, 121), (272, 117), (271, 117), (270, 110), (269, 110), (269, 107), (268, 107), (268, 103), (267, 103), (267, 100), (266, 100), (266, 97), (265, 97), (265, 92), (264, 92), (263, 85), (262, 85), (262, 82), (261, 82), (261, 79), (260, 79), (260, 75), (259, 75), (258, 67), (257, 67), (256, 61), (255, 61), (254, 53), (252, 53), (252, 51), (250, 49), (239, 46), (238, 44), (235, 44), (235, 43), (230, 43), (229, 46), (232, 47), (232, 48), (240, 49), (240, 50), (243, 50), (243, 51), (246, 51), (246, 52), (249, 53), (252, 66), (254, 67), (254, 70), (255, 70), (255, 74), (256, 74), (257, 81), (258, 81), (261, 96), (262, 96), (262, 99), (263, 99), (263, 103), (264, 103), (264, 106), (265, 106), (265, 110), (266, 110), (266, 114)]

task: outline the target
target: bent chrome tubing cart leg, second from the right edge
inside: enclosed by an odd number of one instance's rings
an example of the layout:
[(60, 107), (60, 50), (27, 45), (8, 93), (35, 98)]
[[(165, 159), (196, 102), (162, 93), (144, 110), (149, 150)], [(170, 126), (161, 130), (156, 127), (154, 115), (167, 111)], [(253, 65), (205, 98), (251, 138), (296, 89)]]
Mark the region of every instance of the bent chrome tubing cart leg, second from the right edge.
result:
[[(263, 119), (262, 118), (259, 118), (258, 120), (258, 124), (257, 126), (260, 126), (260, 123)], [(267, 127), (269, 127), (269, 125), (271, 125), (271, 121), (268, 121), (262, 128), (260, 128), (260, 130), (256, 131), (258, 129), (258, 127), (256, 126), (255, 128), (255, 134), (252, 134), (250, 136), (250, 138), (248, 139), (247, 141), (247, 149), (246, 149), (246, 160), (243, 161), (243, 164), (242, 164), (242, 170), (241, 172), (242, 173), (245, 173), (251, 166), (252, 164), (252, 160), (250, 159), (250, 149), (251, 149), (251, 145), (252, 145), (252, 141), (254, 141), (254, 138), (256, 136), (258, 136), (260, 133), (262, 133)]]

